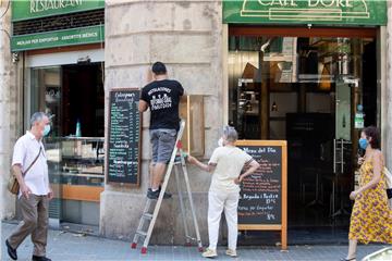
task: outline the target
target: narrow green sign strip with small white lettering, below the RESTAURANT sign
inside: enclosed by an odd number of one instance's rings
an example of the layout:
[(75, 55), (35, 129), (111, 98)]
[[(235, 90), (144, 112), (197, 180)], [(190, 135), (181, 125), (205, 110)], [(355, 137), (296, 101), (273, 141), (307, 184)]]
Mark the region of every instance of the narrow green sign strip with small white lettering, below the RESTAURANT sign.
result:
[(105, 26), (96, 25), (49, 33), (13, 36), (11, 50), (25, 51), (63, 46), (96, 44), (105, 41)]

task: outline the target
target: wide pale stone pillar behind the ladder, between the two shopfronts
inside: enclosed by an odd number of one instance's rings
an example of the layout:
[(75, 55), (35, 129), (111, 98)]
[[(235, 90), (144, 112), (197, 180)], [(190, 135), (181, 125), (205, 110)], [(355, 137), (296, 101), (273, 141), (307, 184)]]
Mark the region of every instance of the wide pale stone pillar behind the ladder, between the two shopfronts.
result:
[[(105, 26), (106, 129), (110, 90), (142, 88), (150, 80), (151, 64), (161, 61), (167, 64), (169, 77), (179, 80), (187, 95), (205, 97), (205, 158), (208, 158), (225, 113), (222, 2), (107, 0)], [(143, 117), (140, 186), (130, 188), (107, 183), (101, 194), (100, 233), (107, 237), (132, 239), (146, 202), (151, 153), (148, 113)], [(206, 241), (210, 179), (195, 169), (188, 171), (200, 233)], [(168, 188), (173, 198), (162, 203), (151, 244), (184, 243), (174, 182), (173, 175)], [(187, 219), (192, 224), (191, 216)]]

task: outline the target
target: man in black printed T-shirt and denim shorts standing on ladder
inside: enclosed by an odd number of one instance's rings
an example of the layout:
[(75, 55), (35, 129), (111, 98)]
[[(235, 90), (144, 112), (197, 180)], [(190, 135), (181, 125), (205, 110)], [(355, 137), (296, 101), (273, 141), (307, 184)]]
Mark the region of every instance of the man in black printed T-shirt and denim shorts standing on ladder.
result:
[[(150, 142), (152, 146), (152, 162), (150, 165), (149, 199), (158, 199), (160, 185), (168, 162), (175, 146), (180, 128), (179, 104), (184, 89), (176, 80), (168, 79), (166, 65), (156, 62), (152, 65), (154, 82), (142, 89), (139, 111), (150, 109)], [(164, 194), (164, 198), (170, 198)]]

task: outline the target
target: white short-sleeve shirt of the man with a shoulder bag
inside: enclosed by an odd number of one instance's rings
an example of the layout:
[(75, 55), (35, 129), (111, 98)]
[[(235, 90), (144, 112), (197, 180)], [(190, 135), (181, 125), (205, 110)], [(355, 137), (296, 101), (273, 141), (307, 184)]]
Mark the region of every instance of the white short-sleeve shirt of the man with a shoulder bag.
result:
[(30, 132), (17, 139), (14, 146), (12, 165), (20, 164), (24, 173), (38, 156), (39, 148), (42, 148), (41, 152), (37, 161), (25, 174), (24, 181), (33, 195), (45, 196), (49, 192), (47, 157), (42, 142), (37, 140)]

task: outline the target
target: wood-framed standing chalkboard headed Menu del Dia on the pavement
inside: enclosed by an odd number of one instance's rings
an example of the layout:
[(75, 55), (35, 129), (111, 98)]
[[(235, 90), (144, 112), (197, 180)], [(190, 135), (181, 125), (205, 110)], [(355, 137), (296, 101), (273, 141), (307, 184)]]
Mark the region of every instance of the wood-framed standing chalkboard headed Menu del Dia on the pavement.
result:
[(282, 248), (285, 249), (287, 144), (281, 140), (241, 140), (236, 145), (260, 164), (241, 185), (238, 228), (281, 231)]

